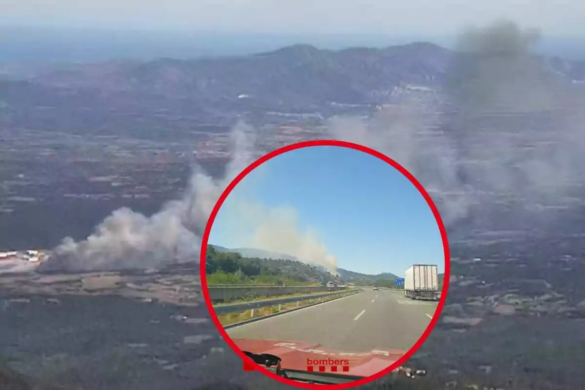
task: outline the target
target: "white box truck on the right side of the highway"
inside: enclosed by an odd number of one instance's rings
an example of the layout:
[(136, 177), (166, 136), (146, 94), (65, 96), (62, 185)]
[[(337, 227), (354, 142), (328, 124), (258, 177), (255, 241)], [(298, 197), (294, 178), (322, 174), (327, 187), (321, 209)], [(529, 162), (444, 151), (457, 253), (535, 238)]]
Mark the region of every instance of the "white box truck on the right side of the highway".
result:
[(414, 264), (404, 271), (404, 296), (410, 299), (439, 298), (439, 270), (436, 264)]

